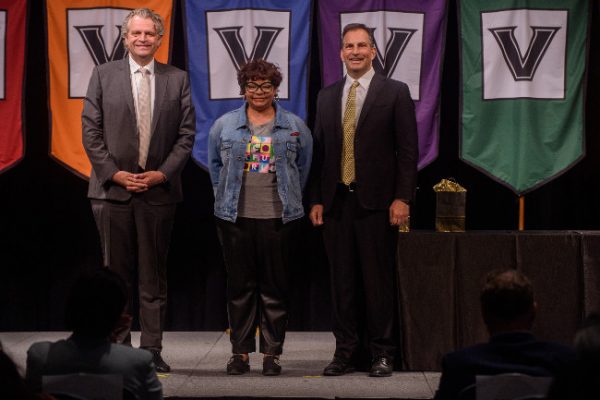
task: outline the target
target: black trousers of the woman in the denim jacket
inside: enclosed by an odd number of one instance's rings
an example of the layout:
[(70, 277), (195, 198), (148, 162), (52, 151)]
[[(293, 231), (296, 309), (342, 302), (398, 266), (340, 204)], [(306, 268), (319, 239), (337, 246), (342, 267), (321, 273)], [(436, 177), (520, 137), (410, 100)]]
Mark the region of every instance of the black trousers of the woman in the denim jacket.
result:
[(281, 354), (288, 323), (288, 268), (296, 221), (238, 218), (217, 221), (227, 269), (232, 352)]

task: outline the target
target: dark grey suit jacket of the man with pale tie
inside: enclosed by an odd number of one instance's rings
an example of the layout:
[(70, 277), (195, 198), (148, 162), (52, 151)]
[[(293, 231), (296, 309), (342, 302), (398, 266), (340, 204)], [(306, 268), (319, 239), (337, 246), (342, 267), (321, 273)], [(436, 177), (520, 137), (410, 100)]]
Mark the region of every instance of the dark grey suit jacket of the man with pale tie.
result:
[[(129, 57), (94, 68), (85, 97), (83, 146), (92, 163), (88, 197), (126, 201), (131, 193), (111, 181), (120, 171), (138, 169), (138, 133)], [(155, 61), (152, 139), (146, 170), (167, 182), (142, 195), (150, 204), (181, 201), (181, 170), (194, 143), (195, 115), (187, 73)]]

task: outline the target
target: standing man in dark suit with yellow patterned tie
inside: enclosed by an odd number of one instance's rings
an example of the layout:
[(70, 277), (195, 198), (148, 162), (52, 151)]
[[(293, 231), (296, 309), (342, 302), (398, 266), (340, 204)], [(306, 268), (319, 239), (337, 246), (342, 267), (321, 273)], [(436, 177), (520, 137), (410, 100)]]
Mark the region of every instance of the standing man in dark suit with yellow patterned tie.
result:
[(417, 128), (407, 85), (374, 72), (374, 43), (365, 25), (344, 27), (347, 75), (317, 102), (310, 219), (323, 225), (336, 338), (325, 375), (354, 370), (363, 320), (370, 376), (392, 374), (394, 251), (415, 191)]

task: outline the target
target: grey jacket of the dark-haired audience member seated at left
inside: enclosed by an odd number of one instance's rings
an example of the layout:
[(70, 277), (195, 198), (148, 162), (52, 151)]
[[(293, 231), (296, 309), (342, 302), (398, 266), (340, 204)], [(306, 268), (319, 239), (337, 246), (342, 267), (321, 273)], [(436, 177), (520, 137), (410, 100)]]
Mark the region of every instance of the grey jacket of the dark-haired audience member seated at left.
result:
[(107, 340), (71, 336), (58, 342), (38, 342), (27, 351), (25, 379), (34, 391), (42, 390), (42, 376), (73, 373), (118, 374), (123, 386), (138, 399), (162, 399), (152, 354)]

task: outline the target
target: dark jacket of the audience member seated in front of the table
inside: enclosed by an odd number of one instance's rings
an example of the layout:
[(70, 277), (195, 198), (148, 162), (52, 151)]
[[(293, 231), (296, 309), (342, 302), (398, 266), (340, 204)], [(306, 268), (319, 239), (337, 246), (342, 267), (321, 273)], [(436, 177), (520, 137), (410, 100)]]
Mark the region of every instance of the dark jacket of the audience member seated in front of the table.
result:
[(572, 366), (575, 351), (567, 346), (539, 341), (529, 332), (492, 336), (488, 343), (449, 353), (442, 359), (442, 377), (434, 399), (456, 399), (477, 375), (518, 372), (555, 376)]

